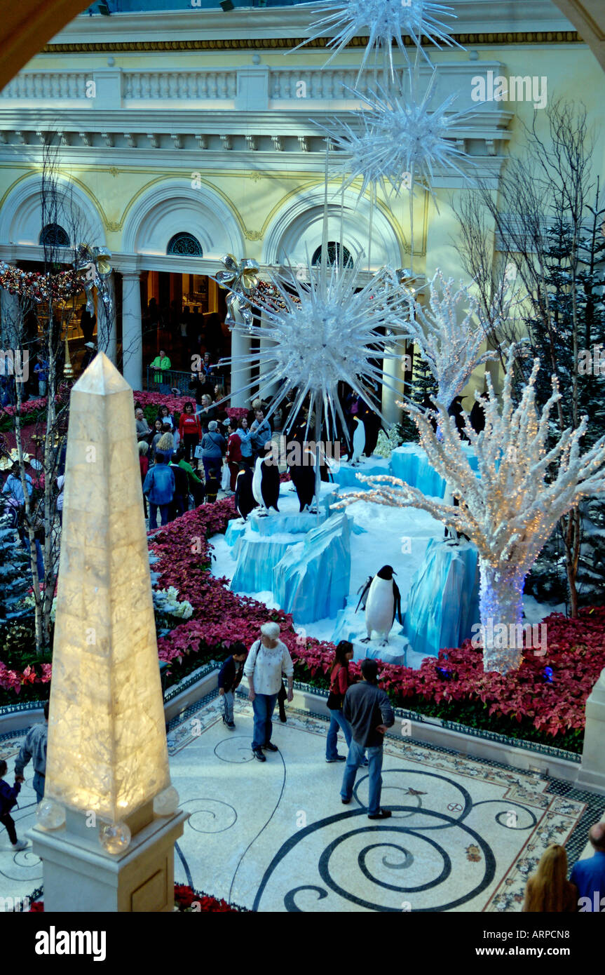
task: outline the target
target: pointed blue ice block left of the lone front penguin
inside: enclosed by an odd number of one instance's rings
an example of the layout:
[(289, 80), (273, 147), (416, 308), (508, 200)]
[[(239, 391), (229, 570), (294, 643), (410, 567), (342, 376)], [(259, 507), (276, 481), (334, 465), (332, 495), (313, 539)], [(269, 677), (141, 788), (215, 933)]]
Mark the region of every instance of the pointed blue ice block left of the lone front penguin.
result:
[(334, 617), (345, 605), (351, 582), (349, 519), (337, 512), (309, 531), (276, 565), (271, 587), (276, 602), (296, 623)]

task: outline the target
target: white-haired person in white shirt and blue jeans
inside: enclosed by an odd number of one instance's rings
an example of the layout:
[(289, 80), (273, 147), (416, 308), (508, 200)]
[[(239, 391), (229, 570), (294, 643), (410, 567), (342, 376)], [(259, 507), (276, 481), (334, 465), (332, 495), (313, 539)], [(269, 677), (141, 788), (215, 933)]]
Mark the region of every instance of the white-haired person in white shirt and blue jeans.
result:
[(250, 646), (244, 676), (249, 686), (247, 696), (254, 709), (252, 754), (258, 761), (266, 761), (263, 750), (278, 751), (277, 745), (271, 741), (271, 717), (282, 686), (282, 674), (287, 678), (287, 699), (291, 701), (294, 666), (287, 646), (280, 640), (280, 624), (265, 623), (260, 632), (260, 640)]

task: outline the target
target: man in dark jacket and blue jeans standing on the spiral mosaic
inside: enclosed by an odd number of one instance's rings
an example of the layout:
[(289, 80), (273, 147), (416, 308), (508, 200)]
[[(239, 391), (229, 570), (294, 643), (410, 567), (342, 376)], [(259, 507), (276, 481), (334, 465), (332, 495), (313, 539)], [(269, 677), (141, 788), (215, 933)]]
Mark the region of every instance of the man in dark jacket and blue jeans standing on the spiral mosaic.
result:
[(382, 749), (387, 728), (395, 724), (395, 714), (387, 692), (378, 686), (378, 664), (364, 660), (361, 682), (349, 687), (343, 701), (342, 713), (351, 724), (353, 740), (349, 747), (340, 796), (345, 805), (353, 797), (355, 777), (367, 749), (369, 764), (368, 819), (389, 819), (391, 812), (380, 807), (382, 788)]

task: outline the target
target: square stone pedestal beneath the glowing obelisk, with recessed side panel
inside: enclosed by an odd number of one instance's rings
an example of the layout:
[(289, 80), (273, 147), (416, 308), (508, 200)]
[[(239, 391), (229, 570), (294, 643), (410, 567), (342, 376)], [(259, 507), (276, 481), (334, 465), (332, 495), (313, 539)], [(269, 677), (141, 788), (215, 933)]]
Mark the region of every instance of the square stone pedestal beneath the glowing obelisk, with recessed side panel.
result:
[(123, 853), (100, 845), (98, 825), (69, 812), (65, 827), (35, 826), (27, 834), (42, 859), (45, 912), (153, 913), (174, 907), (174, 842), (189, 813), (157, 817), (136, 833)]

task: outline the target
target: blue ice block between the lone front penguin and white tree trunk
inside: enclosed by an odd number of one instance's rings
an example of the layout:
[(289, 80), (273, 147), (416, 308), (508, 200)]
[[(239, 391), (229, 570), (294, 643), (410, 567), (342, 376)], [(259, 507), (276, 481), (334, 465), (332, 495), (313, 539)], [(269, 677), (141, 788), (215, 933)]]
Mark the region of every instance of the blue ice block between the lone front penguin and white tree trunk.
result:
[(460, 646), (479, 620), (478, 553), (470, 542), (457, 545), (431, 538), (425, 561), (414, 573), (403, 633), (423, 656)]

